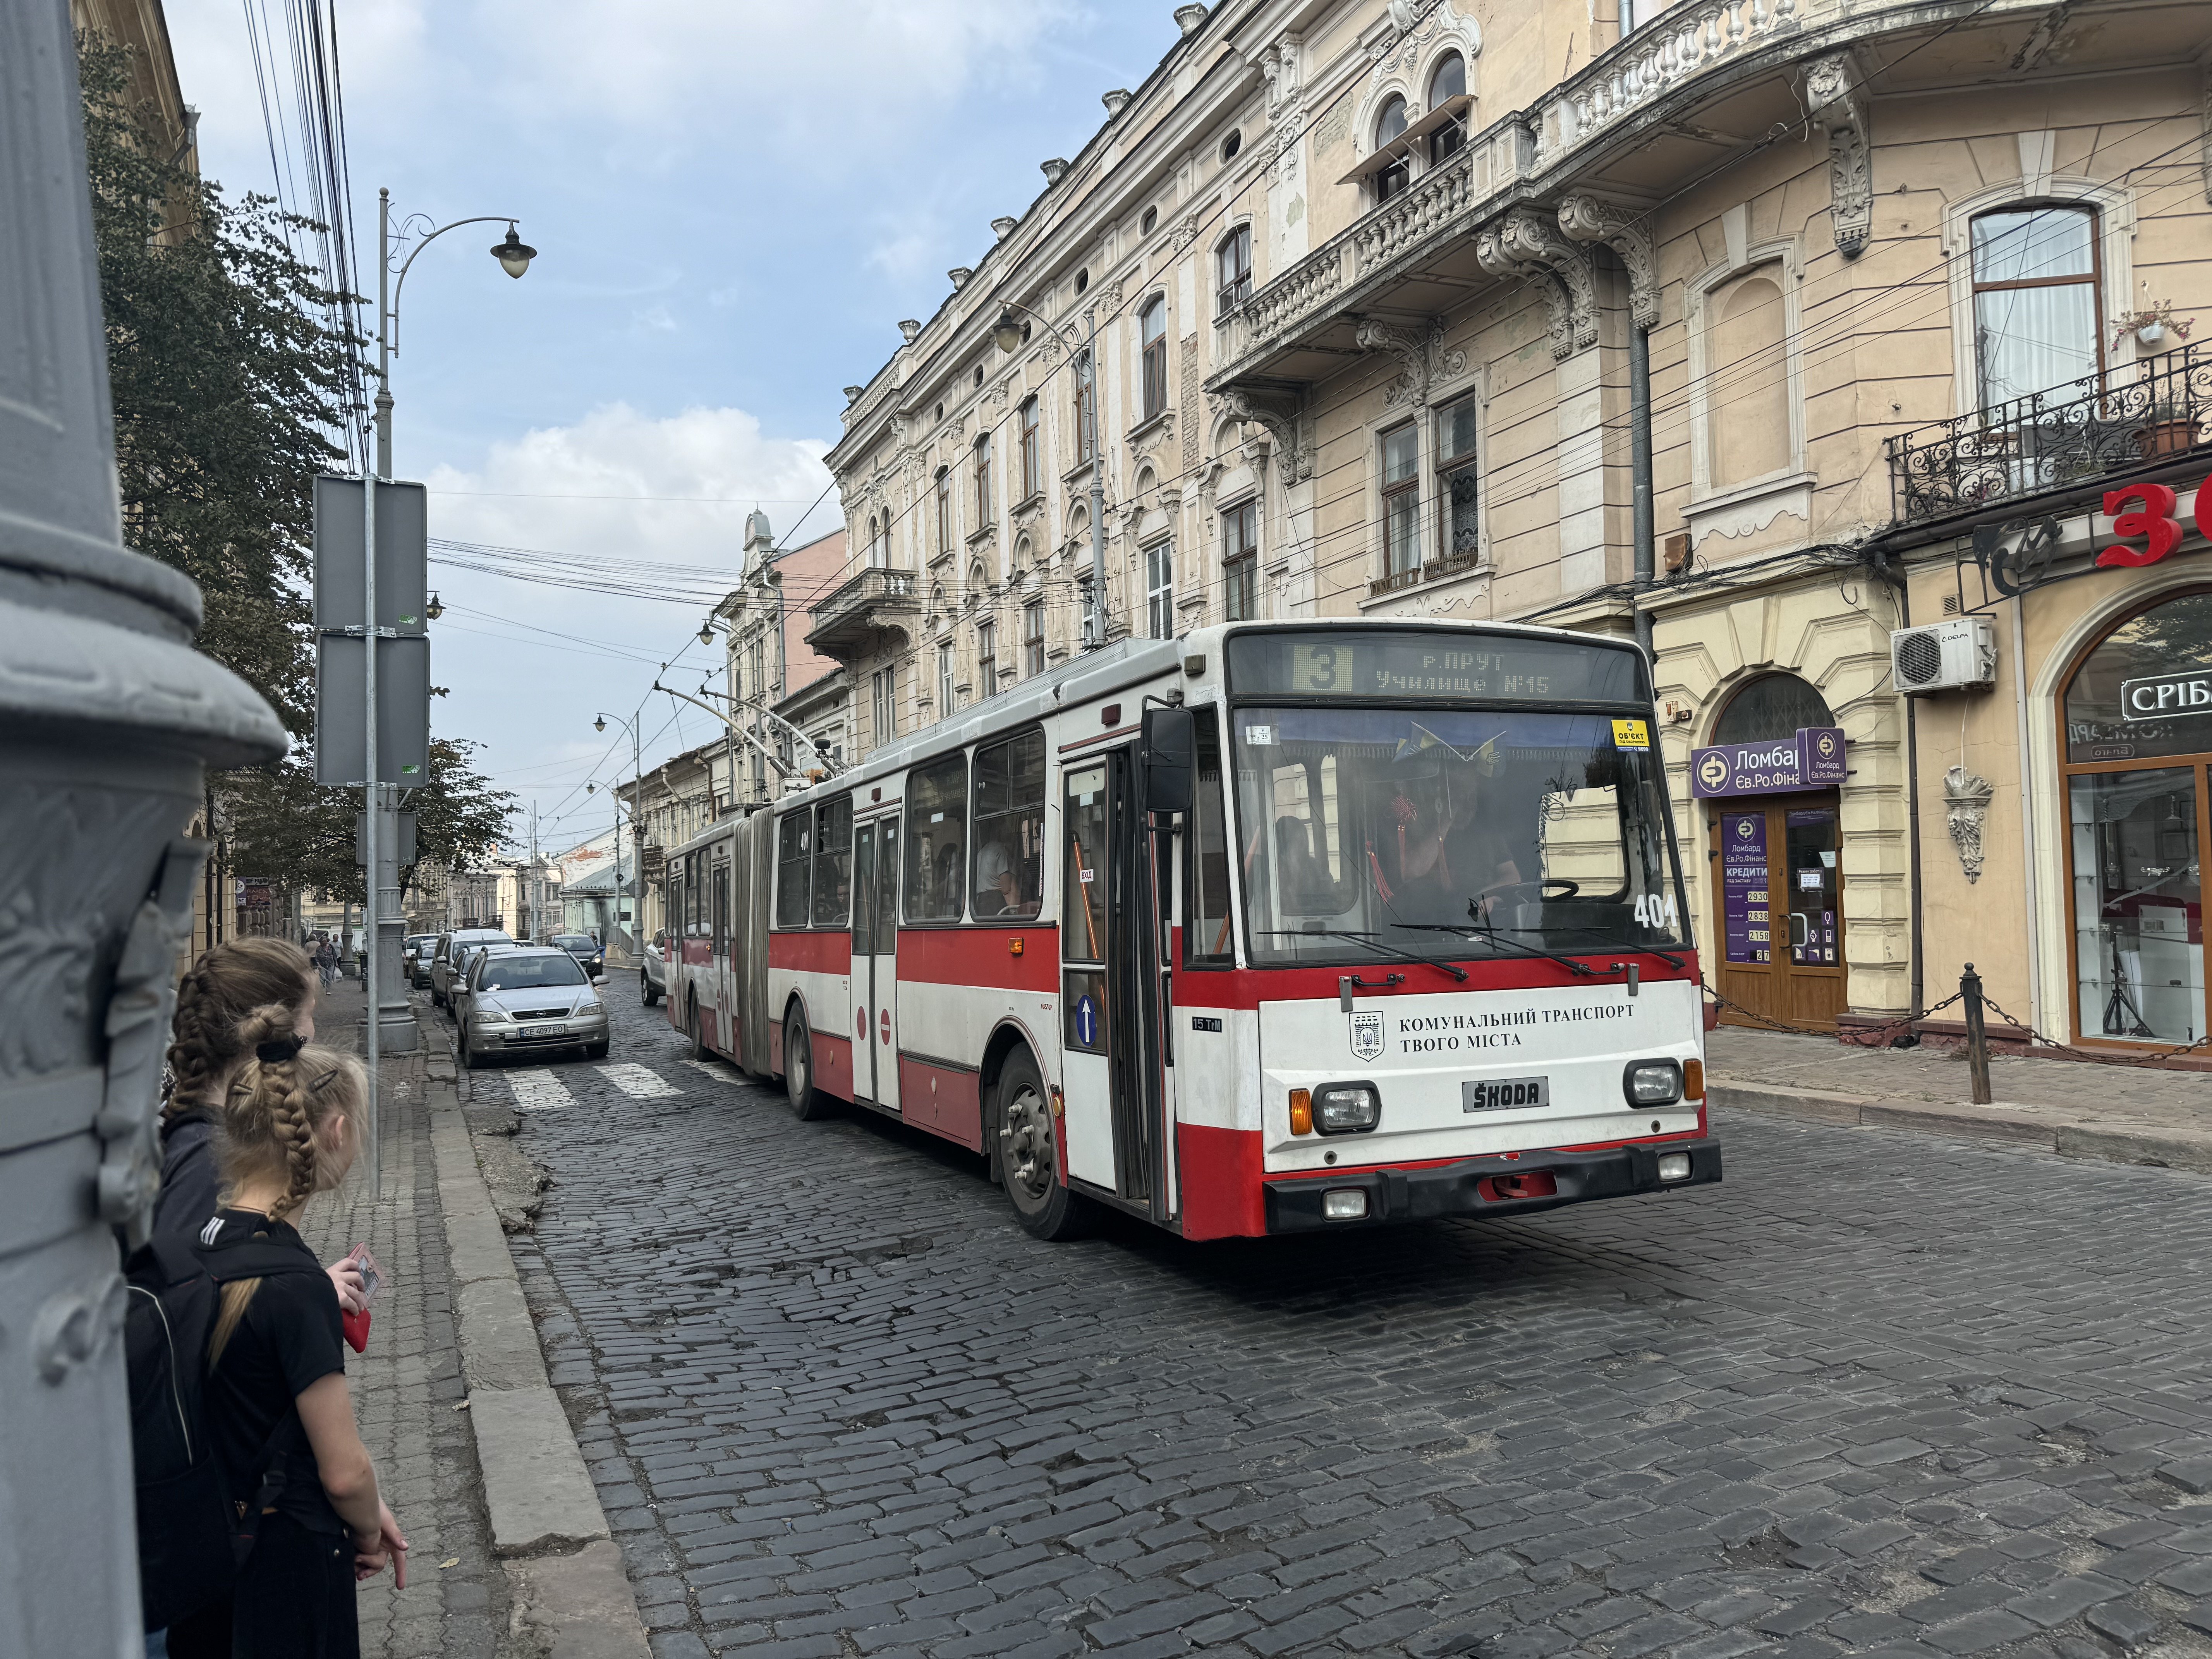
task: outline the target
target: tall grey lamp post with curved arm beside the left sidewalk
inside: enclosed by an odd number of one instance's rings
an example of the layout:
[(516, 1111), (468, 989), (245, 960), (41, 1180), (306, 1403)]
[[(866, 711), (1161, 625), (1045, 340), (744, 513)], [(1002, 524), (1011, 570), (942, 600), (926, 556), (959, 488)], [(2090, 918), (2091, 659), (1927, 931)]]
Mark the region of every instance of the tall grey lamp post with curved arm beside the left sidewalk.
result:
[[(367, 611), (363, 619), (369, 628), (367, 639), (367, 670), (365, 670), (365, 706), (367, 706), (367, 757), (369, 757), (369, 783), (363, 799), (363, 863), (367, 865), (367, 962), (363, 973), (363, 993), (367, 995), (367, 1020), (363, 1020), (363, 1048), (369, 1073), (369, 1133), (367, 1133), (367, 1164), (369, 1164), (369, 1190), (380, 1190), (380, 1152), (376, 1135), (376, 1106), (378, 1106), (378, 1057), (383, 1055), (385, 1042), (392, 1044), (394, 1053), (409, 1053), (416, 1042), (414, 1020), (407, 1015), (407, 993), (398, 982), (398, 942), (407, 931), (407, 920), (398, 914), (398, 785), (378, 781), (378, 752), (376, 752), (376, 484), (392, 478), (392, 358), (398, 354), (398, 321), (400, 321), (400, 294), (407, 288), (407, 272), (414, 270), (414, 261), (422, 257), (447, 230), (458, 230), (460, 226), (476, 223), (504, 223), (507, 239), (491, 248), (491, 257), (500, 261), (500, 270), (509, 276), (522, 276), (531, 268), (531, 259), (538, 257), (535, 248), (524, 246), (522, 237), (515, 234), (513, 215), (476, 217), (476, 219), (453, 219), (447, 226), (427, 230), (420, 241), (407, 252), (407, 259), (398, 265), (398, 281), (394, 281), (392, 268), (392, 192), (376, 192), (376, 476), (363, 480), (361, 487), (361, 533), (363, 533), (363, 571), (367, 582)], [(409, 221), (403, 221), (403, 230)], [(427, 219), (425, 219), (427, 223)], [(427, 615), (442, 615), (445, 606), (427, 608)]]

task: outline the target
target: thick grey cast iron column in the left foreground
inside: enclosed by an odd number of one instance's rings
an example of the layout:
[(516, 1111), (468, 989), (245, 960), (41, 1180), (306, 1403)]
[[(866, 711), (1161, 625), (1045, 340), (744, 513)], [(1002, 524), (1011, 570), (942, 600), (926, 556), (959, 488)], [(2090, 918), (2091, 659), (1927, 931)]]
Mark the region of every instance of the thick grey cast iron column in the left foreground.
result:
[[(0, 0), (0, 1652), (142, 1655), (122, 1279), (204, 765), (283, 728), (124, 551), (66, 0)], [(221, 902), (226, 896), (217, 896)]]

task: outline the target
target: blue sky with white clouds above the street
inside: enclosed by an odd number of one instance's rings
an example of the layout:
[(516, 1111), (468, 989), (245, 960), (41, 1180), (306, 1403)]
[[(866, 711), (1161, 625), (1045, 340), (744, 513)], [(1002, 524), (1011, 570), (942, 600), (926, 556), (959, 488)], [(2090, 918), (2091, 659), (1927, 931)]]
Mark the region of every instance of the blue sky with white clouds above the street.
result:
[[(378, 186), (396, 219), (515, 215), (540, 250), (515, 283), (484, 254), (504, 226), (467, 226), (407, 279), (394, 473), (431, 487), (431, 535), (708, 586), (734, 575), (754, 504), (794, 531), (830, 482), (841, 387), (1177, 35), (1170, 0), (332, 4), (363, 270)], [(204, 170), (268, 190), (288, 113), (263, 122), (248, 15), (283, 9), (166, 11)], [(431, 577), (451, 688), (434, 726), (484, 743), (549, 847), (611, 821), (584, 783), (617, 776), (617, 752), (628, 772), (613, 717), (644, 703), (646, 765), (710, 737), (648, 697), (670, 657), (670, 684), (699, 684), (706, 606)]]

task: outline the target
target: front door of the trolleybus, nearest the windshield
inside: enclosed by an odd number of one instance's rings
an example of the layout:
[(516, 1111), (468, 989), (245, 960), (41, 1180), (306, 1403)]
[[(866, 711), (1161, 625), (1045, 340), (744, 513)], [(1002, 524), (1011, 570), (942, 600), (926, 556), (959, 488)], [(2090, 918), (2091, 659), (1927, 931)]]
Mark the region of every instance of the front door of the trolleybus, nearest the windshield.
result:
[(1152, 1206), (1159, 962), (1128, 750), (1062, 781), (1062, 1091), (1068, 1175)]

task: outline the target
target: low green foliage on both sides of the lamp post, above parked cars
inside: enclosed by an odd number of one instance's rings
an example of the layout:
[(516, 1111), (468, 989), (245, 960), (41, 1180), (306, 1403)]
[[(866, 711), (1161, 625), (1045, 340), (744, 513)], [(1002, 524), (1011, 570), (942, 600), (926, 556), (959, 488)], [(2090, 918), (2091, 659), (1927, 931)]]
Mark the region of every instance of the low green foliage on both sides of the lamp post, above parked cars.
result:
[[(405, 796), (405, 807), (416, 814), (416, 856), (422, 863), (473, 865), (507, 836), (515, 796), (493, 790), (473, 761), (476, 743), (431, 739), (429, 781)], [(217, 794), (232, 867), (292, 891), (365, 902), (361, 865), (354, 863), (361, 790), (316, 783), (314, 765), (292, 754), (270, 768), (226, 774)], [(400, 885), (414, 885), (414, 867), (400, 869)]]

